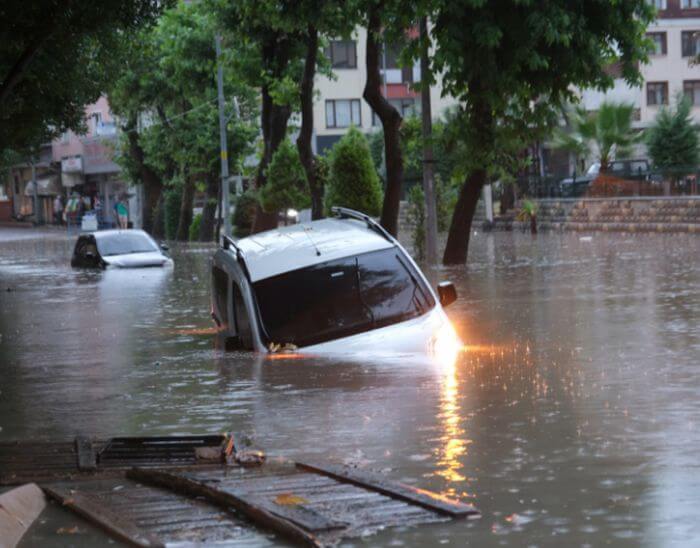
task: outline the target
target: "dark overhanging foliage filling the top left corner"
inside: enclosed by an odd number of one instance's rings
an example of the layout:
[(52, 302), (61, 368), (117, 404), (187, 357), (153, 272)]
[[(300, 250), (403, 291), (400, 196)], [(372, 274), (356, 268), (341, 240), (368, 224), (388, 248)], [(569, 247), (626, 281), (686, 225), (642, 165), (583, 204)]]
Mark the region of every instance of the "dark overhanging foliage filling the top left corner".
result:
[(118, 70), (119, 36), (149, 25), (167, 2), (3, 0), (0, 152), (24, 151), (85, 129), (85, 106)]

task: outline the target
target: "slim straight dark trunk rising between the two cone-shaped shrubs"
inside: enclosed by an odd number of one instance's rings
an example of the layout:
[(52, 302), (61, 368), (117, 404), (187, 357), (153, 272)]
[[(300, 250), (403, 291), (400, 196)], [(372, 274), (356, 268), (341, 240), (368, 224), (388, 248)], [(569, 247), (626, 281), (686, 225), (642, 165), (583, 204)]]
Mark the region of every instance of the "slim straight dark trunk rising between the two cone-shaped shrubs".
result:
[(311, 147), (311, 138), (314, 128), (314, 76), (316, 75), (316, 57), (318, 56), (318, 31), (313, 25), (309, 25), (306, 35), (306, 60), (304, 61), (304, 74), (301, 80), (299, 98), (301, 102), (301, 129), (297, 137), (297, 150), (299, 159), (306, 172), (306, 180), (309, 183), (311, 193), (311, 218), (313, 220), (323, 217), (323, 187), (316, 179), (314, 166), (314, 154)]

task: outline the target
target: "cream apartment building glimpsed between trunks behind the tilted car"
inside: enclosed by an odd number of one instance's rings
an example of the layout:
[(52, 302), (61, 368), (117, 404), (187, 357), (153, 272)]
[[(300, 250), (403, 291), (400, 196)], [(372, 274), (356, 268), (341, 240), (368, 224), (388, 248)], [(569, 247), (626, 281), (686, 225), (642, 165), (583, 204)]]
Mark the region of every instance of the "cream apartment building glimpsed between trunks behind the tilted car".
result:
[[(362, 98), (367, 81), (366, 57), (367, 29), (358, 27), (349, 40), (333, 40), (326, 48), (326, 56), (333, 67), (333, 78), (317, 76), (318, 92), (314, 103), (314, 135), (316, 150), (323, 152), (333, 146), (348, 130), (356, 126), (364, 132), (381, 128), (381, 122)], [(420, 64), (400, 67), (398, 50), (387, 45), (381, 59), (385, 74), (383, 93), (404, 116), (419, 114), (420, 92), (412, 84), (420, 82)], [(431, 111), (437, 118), (448, 106), (454, 104), (449, 97), (442, 97), (442, 85), (431, 88)]]

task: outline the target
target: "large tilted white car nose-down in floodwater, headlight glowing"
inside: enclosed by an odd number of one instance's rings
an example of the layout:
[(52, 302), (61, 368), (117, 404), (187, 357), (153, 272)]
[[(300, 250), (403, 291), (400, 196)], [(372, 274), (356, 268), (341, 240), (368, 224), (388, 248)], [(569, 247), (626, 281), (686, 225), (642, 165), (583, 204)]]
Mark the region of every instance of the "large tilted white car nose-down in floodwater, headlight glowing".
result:
[(440, 354), (461, 346), (404, 248), (371, 217), (335, 217), (224, 237), (212, 259), (212, 317), (227, 348), (258, 352)]

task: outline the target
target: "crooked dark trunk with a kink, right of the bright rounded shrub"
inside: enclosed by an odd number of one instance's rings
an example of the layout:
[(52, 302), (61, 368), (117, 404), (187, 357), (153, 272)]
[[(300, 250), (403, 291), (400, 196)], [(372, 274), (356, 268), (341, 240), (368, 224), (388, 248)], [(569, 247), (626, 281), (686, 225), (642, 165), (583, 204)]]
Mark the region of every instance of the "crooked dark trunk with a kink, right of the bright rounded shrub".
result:
[(370, 9), (367, 25), (367, 83), (365, 84), (365, 101), (372, 107), (382, 122), (384, 129), (384, 154), (386, 158), (386, 190), (382, 205), (381, 225), (390, 234), (396, 236), (399, 223), (399, 202), (403, 183), (403, 159), (401, 157), (401, 115), (382, 95), (382, 79), (379, 72), (379, 54), (381, 52), (381, 18), (379, 7)]

